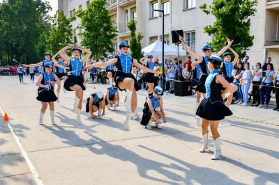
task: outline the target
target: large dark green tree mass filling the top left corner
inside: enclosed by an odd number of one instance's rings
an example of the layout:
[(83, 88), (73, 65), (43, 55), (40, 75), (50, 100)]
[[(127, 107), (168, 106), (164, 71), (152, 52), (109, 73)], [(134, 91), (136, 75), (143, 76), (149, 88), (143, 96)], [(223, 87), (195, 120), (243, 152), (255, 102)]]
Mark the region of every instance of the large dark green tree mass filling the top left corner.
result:
[[(0, 59), (22, 63), (36, 61), (35, 46), (47, 32), (49, 3), (43, 0), (4, 0), (0, 3)], [(3, 58), (1, 58), (3, 57)]]

